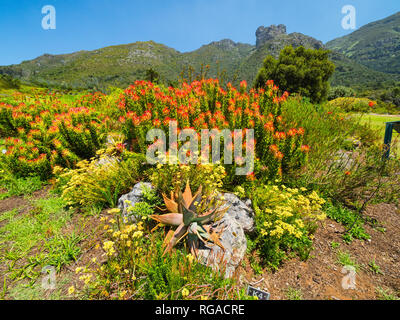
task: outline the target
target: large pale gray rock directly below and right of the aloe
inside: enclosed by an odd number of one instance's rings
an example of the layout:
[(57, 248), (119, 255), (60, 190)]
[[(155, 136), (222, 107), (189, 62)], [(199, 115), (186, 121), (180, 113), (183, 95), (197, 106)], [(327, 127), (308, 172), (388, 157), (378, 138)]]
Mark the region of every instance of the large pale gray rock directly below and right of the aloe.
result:
[(212, 228), (223, 230), (220, 241), (224, 249), (217, 245), (203, 245), (198, 250), (197, 258), (200, 263), (210, 266), (214, 270), (221, 270), (221, 266), (224, 266), (225, 277), (231, 277), (247, 249), (243, 228), (235, 218), (227, 214), (220, 221), (214, 223)]

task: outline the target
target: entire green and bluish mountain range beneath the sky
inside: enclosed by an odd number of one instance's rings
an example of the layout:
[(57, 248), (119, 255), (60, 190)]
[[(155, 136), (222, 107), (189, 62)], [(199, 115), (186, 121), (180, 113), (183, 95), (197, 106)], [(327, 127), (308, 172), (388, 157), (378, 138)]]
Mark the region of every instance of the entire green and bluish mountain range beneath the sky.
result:
[(144, 79), (149, 69), (167, 84), (207, 69), (208, 77), (252, 83), (264, 58), (269, 54), (277, 57), (287, 45), (330, 49), (336, 65), (333, 86), (377, 89), (400, 80), (400, 12), (325, 45), (301, 33), (288, 34), (281, 24), (259, 27), (256, 45), (224, 39), (182, 53), (153, 41), (135, 42), (71, 54), (44, 54), (0, 67), (0, 74), (46, 86), (105, 89)]

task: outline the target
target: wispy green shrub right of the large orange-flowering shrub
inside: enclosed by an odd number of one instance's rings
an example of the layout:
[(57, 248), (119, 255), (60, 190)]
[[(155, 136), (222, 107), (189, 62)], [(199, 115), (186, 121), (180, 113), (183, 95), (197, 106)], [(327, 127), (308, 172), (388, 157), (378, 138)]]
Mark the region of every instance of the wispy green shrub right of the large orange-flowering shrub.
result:
[[(397, 199), (398, 188), (392, 186), (399, 184), (398, 161), (385, 161), (383, 170), (381, 136), (360, 123), (361, 117), (346, 117), (329, 104), (315, 107), (297, 97), (283, 104), (282, 115), (288, 126), (304, 128), (303, 143), (311, 146), (306, 164), (284, 176), (284, 183), (318, 190), (348, 205), (368, 199), (368, 193), (374, 201)], [(354, 139), (360, 142), (358, 148)], [(384, 183), (375, 193), (379, 181)]]

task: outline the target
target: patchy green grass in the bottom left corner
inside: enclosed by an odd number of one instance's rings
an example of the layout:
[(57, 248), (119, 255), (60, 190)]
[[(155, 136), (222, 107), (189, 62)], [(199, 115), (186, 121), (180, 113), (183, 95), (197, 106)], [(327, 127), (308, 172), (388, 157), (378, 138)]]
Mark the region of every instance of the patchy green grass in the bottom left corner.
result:
[[(21, 207), (0, 212), (0, 300), (43, 299), (46, 292), (38, 281), (43, 267), (52, 266), (58, 274), (81, 253), (79, 242), (84, 235), (75, 229), (64, 230), (72, 219), (72, 211), (65, 209), (61, 198), (48, 196), (25, 201), (25, 206), (32, 207), (30, 210)], [(58, 299), (60, 285), (62, 282), (54, 292)]]

